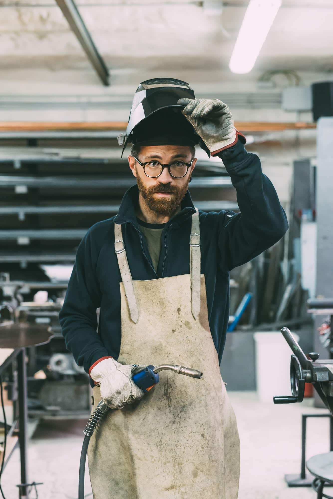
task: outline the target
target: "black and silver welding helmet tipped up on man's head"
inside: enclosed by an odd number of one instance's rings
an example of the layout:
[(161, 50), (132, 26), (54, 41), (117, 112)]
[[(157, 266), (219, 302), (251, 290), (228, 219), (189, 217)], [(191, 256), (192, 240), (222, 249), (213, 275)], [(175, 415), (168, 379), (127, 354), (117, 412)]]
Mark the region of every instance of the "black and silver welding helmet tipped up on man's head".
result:
[(177, 104), (181, 98), (195, 99), (188, 83), (174, 78), (153, 78), (143, 81), (134, 95), (126, 133), (118, 136), (123, 146), (195, 146), (210, 152), (193, 126), (182, 114), (185, 106)]

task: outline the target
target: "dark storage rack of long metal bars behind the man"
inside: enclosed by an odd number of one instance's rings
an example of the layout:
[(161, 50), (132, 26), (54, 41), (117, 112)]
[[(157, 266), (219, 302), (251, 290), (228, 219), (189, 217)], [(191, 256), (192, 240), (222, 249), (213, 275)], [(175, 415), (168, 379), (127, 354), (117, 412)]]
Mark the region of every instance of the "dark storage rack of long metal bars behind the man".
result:
[[(136, 180), (116, 136), (0, 132), (0, 271), (8, 263), (73, 262), (88, 228), (118, 212)], [(238, 211), (222, 162), (198, 160), (189, 188), (199, 209)]]

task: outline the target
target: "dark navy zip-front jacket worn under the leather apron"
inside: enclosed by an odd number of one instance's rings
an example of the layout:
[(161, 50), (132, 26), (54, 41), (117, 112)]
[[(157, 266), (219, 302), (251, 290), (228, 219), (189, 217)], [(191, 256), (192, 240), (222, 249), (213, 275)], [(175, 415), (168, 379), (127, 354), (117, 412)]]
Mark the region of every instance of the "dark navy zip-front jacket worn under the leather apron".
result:
[[(229, 320), (229, 272), (279, 241), (288, 230), (288, 222), (273, 184), (262, 173), (257, 155), (248, 153), (238, 141), (219, 153), (219, 157), (236, 188), (240, 213), (199, 210), (199, 221), (201, 273), (206, 282), (209, 326), (221, 361)], [(114, 248), (115, 222), (122, 224), (134, 280), (189, 273), (188, 242), (194, 213), (189, 192), (181, 203), (180, 212), (163, 230), (157, 272), (138, 225), (135, 211), (138, 197), (135, 185), (125, 193), (118, 215), (93, 225), (77, 250), (59, 321), (67, 349), (86, 372), (101, 357), (111, 355), (117, 359), (120, 352), (121, 275)], [(136, 362), (133, 352), (133, 363)]]

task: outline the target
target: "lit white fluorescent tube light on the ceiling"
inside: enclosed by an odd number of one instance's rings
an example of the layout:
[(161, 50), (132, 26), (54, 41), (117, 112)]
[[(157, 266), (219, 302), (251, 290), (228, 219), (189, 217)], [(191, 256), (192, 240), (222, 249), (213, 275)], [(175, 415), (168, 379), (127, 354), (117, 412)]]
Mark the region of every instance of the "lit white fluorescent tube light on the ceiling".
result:
[(233, 73), (249, 73), (282, 0), (250, 0), (229, 62)]

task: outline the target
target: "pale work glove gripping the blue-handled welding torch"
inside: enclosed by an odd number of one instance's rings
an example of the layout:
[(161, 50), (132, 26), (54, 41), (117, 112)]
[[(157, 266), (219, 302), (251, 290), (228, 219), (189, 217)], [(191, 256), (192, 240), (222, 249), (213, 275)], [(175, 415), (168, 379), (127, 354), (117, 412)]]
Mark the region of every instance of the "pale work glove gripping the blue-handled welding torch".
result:
[(98, 360), (89, 369), (91, 379), (100, 386), (103, 402), (111, 409), (122, 409), (144, 396), (143, 390), (132, 380), (133, 369), (132, 364), (121, 364), (113, 357)]

